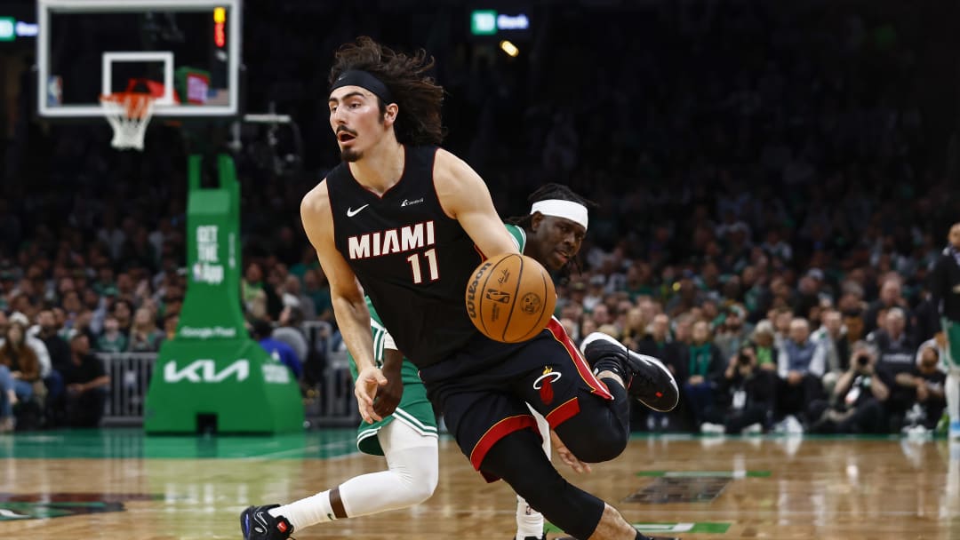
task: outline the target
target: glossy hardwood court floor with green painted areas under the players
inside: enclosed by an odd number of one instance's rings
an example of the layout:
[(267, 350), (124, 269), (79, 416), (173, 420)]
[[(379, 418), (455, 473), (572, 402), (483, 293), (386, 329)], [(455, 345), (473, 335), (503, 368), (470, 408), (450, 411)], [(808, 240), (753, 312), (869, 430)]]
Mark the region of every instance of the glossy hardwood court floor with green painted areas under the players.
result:
[[(354, 453), (352, 436), (2, 434), (0, 538), (239, 539), (246, 505), (289, 502), (379, 470), (380, 459)], [(960, 539), (960, 444), (945, 440), (640, 437), (591, 475), (559, 466), (650, 533)], [(440, 485), (426, 504), (294, 536), (507, 539), (515, 509), (508, 486), (482, 481), (444, 437)]]

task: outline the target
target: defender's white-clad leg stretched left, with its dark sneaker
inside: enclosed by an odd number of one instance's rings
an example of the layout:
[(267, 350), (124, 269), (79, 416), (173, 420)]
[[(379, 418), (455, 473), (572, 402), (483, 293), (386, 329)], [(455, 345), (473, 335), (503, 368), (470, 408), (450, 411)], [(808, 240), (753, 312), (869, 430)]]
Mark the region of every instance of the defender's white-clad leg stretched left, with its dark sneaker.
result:
[(439, 478), (437, 436), (395, 420), (377, 434), (389, 469), (352, 478), (289, 505), (251, 506), (240, 515), (245, 540), (286, 540), (294, 530), (407, 506), (430, 498)]

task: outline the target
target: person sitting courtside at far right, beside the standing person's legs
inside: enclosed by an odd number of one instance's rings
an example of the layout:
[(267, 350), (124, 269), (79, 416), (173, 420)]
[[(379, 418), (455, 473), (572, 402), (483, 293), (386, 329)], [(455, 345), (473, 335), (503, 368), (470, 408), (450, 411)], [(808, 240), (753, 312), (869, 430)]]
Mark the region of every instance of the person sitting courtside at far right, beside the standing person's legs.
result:
[(897, 374), (897, 388), (904, 394), (913, 393), (913, 406), (907, 411), (903, 429), (914, 431), (922, 427), (933, 431), (947, 408), (944, 387), (947, 373), (940, 369), (940, 350), (935, 342), (927, 341), (918, 351), (917, 364), (909, 371)]

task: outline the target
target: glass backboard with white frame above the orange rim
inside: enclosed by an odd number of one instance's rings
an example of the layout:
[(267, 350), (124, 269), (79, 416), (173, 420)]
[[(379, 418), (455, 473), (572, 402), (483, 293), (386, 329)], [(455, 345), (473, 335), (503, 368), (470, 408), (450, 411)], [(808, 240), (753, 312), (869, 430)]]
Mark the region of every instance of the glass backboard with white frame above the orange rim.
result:
[(37, 111), (102, 117), (100, 97), (135, 89), (155, 116), (239, 110), (241, 0), (39, 0)]

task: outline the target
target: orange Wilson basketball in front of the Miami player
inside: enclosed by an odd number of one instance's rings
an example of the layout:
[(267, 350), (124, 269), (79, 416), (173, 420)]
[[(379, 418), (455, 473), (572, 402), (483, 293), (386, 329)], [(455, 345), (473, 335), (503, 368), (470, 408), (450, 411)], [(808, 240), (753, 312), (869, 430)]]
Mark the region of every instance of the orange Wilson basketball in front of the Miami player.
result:
[(480, 263), (467, 284), (466, 299), (473, 326), (504, 343), (540, 334), (557, 306), (550, 274), (534, 259), (516, 253)]

